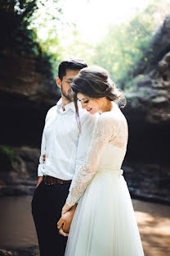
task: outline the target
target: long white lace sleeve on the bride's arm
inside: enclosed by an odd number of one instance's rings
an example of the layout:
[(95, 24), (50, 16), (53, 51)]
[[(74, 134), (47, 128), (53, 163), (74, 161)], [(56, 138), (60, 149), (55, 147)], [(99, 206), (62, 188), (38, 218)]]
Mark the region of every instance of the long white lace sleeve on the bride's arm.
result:
[(96, 173), (105, 145), (108, 144), (110, 139), (116, 136), (117, 132), (118, 122), (114, 121), (114, 117), (110, 117), (110, 112), (101, 114), (93, 131), (92, 142), (87, 156), (71, 183), (69, 195), (66, 199), (66, 203), (69, 206), (78, 203), (78, 199), (84, 190), (86, 190), (87, 185), (92, 181), (92, 177)]

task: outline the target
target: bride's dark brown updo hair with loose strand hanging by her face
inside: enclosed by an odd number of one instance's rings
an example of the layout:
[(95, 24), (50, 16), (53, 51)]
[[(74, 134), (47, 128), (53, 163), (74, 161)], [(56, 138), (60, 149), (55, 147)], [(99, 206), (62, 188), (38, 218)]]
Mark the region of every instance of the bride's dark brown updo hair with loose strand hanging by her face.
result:
[[(88, 98), (107, 98), (117, 102), (119, 107), (126, 105), (126, 99), (122, 92), (116, 88), (114, 82), (104, 68), (100, 66), (85, 67), (79, 71), (71, 83), (71, 92), (78, 115), (77, 94), (86, 95)], [(78, 115), (79, 116), (79, 115)]]

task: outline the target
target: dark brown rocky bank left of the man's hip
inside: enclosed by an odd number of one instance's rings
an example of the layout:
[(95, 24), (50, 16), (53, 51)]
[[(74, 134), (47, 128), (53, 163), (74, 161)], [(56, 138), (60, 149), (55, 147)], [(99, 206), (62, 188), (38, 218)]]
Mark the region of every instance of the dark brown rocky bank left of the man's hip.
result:
[[(37, 182), (39, 149), (14, 148), (12, 158), (0, 154), (0, 195), (33, 194)], [(8, 163), (8, 166), (7, 166)]]

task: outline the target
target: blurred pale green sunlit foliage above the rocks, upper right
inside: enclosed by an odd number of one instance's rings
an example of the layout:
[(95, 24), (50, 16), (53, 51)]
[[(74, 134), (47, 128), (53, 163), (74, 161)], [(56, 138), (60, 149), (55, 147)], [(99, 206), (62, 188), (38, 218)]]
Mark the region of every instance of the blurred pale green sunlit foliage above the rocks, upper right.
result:
[(147, 72), (154, 58), (154, 13), (161, 3), (163, 0), (154, 0), (130, 21), (110, 26), (105, 39), (96, 45), (93, 64), (105, 67), (122, 89), (128, 88), (136, 75)]

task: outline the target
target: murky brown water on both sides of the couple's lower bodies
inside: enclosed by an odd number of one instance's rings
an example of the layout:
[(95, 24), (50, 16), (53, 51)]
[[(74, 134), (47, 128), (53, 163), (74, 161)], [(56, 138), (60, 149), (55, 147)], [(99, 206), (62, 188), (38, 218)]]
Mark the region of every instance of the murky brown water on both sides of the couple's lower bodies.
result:
[[(38, 245), (31, 196), (0, 198), (0, 249)], [(170, 255), (170, 206), (132, 200), (147, 256)]]

